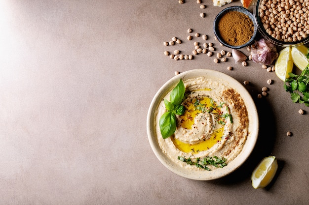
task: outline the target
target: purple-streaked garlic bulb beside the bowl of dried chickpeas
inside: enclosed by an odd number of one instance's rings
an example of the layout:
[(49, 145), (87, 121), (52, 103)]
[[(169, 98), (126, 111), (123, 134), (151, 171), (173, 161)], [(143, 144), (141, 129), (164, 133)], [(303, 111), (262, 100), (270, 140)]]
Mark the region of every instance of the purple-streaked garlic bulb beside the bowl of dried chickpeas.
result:
[(278, 58), (277, 49), (270, 41), (261, 38), (254, 44), (256, 48), (251, 50), (253, 62), (270, 65), (273, 60)]

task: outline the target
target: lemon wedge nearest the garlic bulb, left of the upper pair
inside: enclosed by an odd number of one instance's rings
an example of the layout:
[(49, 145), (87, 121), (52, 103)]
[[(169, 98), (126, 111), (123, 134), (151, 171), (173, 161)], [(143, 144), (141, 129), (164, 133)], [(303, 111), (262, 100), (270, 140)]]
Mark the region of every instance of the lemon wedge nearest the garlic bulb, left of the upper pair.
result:
[(291, 48), (286, 47), (280, 51), (279, 56), (274, 64), (275, 73), (282, 81), (289, 78), (289, 73), (293, 69), (293, 60), (291, 55)]

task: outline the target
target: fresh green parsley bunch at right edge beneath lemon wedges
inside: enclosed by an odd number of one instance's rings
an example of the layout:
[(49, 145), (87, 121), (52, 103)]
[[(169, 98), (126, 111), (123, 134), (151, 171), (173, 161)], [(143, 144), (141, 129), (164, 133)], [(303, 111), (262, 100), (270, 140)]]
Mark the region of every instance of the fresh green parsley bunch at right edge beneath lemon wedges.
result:
[[(309, 59), (309, 49), (307, 54)], [(309, 64), (300, 75), (289, 73), (290, 78), (285, 80), (284, 88), (291, 93), (294, 103), (304, 103), (309, 107)]]

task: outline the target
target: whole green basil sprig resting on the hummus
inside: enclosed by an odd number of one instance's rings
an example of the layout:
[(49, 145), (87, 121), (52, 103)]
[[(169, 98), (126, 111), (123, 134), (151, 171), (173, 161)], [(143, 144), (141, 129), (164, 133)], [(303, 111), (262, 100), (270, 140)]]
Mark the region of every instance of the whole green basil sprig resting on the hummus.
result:
[(159, 119), (160, 132), (163, 139), (170, 137), (176, 131), (176, 115), (184, 115), (186, 108), (181, 105), (185, 96), (185, 85), (180, 79), (177, 86), (170, 94), (170, 101), (164, 99), (164, 105), (167, 110)]

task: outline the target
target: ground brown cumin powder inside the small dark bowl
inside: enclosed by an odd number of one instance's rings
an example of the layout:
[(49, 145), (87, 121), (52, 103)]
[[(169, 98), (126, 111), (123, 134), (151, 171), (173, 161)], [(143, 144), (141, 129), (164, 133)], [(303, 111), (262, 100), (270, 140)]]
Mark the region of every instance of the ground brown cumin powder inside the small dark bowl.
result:
[(251, 39), (254, 25), (248, 15), (238, 11), (229, 11), (221, 17), (218, 29), (227, 44), (240, 46)]

